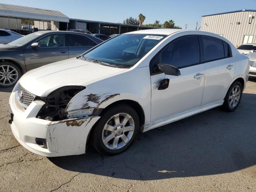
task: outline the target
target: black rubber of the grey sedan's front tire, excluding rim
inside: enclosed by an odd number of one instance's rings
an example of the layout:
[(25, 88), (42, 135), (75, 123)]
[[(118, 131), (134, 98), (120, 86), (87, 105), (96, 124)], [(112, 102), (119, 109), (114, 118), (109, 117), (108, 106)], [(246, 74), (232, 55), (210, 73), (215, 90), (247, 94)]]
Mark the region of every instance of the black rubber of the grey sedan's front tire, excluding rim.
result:
[[(16, 66), (15, 64), (13, 64), (11, 62), (4, 61), (4, 62), (0, 62), (0, 79), (4, 77), (3, 73), (4, 73), (4, 69), (6, 70), (6, 66), (10, 66), (10, 68), (14, 68), (17, 71), (18, 76), (16, 78), (16, 76), (11, 75), (11, 77), (15, 79), (15, 80), (10, 79), (11, 83), (8, 82), (8, 80), (6, 80), (7, 83), (4, 82), (4, 79), (0, 80), (0, 87), (2, 87), (2, 88), (14, 86), (18, 82), (19, 78), (22, 75), (18, 66)], [(4, 67), (4, 69), (3, 69), (3, 67)]]

